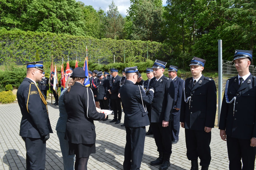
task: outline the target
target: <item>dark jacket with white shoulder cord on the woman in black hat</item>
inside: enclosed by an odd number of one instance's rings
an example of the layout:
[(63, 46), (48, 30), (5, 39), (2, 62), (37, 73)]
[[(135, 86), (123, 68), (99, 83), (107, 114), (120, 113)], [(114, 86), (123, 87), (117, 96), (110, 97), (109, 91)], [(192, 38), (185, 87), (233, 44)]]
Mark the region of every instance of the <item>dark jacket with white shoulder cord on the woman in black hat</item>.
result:
[(70, 92), (64, 93), (63, 101), (68, 114), (65, 139), (74, 144), (95, 143), (93, 120), (104, 120), (105, 114), (96, 111), (92, 90), (75, 82)]

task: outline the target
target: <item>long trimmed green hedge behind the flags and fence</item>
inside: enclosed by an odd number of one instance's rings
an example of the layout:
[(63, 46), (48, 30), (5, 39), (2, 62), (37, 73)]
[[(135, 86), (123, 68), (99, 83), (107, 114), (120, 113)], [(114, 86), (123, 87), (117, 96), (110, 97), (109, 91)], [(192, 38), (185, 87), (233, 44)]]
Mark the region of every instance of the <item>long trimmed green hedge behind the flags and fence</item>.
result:
[[(86, 56), (86, 46), (88, 47), (88, 57), (94, 60), (95, 56), (125, 56), (125, 62), (141, 60), (142, 56), (168, 60), (171, 49), (166, 45), (151, 41), (130, 41), (114, 39), (96, 39), (84, 36), (72, 36), (67, 34), (56, 34), (50, 32), (32, 32), (0, 29), (0, 62), (12, 63), (25, 61), (35, 61), (40, 58), (50, 61), (64, 61), (70, 57)], [(102, 57), (106, 59), (106, 57)], [(127, 60), (127, 61), (126, 61)], [(123, 61), (122, 61), (123, 62)], [(109, 62), (110, 63), (110, 62)]]

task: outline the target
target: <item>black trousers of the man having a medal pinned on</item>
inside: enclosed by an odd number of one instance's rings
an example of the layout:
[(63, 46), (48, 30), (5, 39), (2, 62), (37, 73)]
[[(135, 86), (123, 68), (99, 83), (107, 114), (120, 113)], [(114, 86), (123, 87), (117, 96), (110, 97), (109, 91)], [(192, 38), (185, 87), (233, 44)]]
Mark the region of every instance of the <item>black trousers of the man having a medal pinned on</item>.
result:
[(171, 154), (171, 121), (167, 127), (163, 127), (162, 123), (150, 123), (150, 127), (154, 134), (157, 151), (166, 155)]

